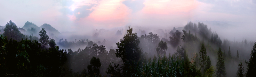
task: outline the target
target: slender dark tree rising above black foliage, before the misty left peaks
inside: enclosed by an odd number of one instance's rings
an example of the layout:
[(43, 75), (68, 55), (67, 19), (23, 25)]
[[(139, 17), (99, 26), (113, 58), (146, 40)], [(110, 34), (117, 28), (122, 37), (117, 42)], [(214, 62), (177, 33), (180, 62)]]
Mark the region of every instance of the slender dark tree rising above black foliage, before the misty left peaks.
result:
[(48, 46), (49, 37), (46, 34), (46, 31), (44, 30), (44, 28), (42, 28), (42, 30), (39, 32), (39, 36), (40, 36), (39, 41), (42, 44), (42, 47), (44, 48), (45, 46)]

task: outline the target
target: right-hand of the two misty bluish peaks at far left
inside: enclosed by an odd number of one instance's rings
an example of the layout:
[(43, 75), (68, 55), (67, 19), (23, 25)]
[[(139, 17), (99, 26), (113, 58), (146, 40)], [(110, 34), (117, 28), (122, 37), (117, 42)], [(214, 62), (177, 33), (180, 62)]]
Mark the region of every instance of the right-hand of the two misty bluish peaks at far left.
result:
[(50, 24), (43, 24), (42, 26), (40, 26), (40, 28), (44, 28), (44, 30), (47, 32), (47, 34), (54, 34), (54, 36), (58, 36), (59, 34), (61, 34), (58, 30), (56, 30), (55, 28), (53, 28)]

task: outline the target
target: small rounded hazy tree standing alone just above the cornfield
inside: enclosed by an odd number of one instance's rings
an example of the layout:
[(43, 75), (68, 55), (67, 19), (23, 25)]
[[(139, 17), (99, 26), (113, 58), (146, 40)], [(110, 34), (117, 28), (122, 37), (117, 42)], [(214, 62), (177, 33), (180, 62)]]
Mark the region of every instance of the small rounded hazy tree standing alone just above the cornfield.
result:
[(167, 43), (164, 41), (160, 41), (158, 43), (158, 47), (156, 48), (157, 56), (164, 56), (166, 54), (165, 52), (166, 50), (167, 50)]

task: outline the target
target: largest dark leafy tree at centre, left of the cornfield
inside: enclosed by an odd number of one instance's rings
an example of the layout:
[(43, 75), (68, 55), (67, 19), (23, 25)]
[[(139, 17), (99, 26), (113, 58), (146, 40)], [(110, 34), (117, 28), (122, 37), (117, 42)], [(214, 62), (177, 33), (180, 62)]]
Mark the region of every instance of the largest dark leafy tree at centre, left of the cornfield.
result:
[(116, 57), (122, 59), (125, 67), (124, 71), (128, 69), (129, 62), (138, 62), (141, 58), (143, 51), (141, 50), (139, 44), (140, 40), (138, 39), (137, 33), (132, 33), (132, 28), (129, 26), (127, 33), (122, 39), (120, 39), (120, 43), (116, 43)]

